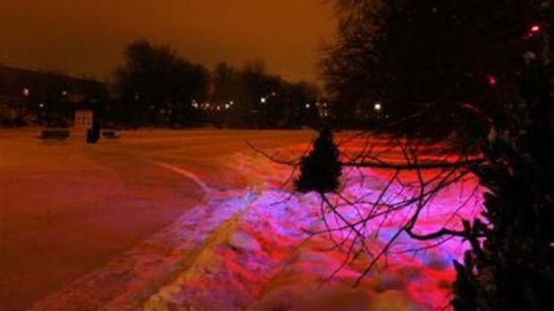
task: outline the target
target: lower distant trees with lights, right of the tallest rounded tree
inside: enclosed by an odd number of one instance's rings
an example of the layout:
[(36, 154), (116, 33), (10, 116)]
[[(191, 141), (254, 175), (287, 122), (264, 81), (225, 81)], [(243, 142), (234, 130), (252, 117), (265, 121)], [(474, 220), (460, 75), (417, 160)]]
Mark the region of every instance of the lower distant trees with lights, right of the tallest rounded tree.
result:
[[(218, 63), (212, 84), (210, 101), (221, 108), (214, 113), (217, 123), (254, 128), (316, 126), (318, 88), (305, 81), (282, 80), (266, 72), (261, 62), (247, 63), (241, 70)], [(229, 108), (223, 109), (226, 105)]]

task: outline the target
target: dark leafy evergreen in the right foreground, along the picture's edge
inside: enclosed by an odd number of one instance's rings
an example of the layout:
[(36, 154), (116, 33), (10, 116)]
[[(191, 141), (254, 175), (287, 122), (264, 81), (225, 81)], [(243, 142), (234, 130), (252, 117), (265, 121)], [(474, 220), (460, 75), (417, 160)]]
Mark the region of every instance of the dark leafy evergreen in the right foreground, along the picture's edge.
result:
[[(483, 185), (484, 222), (465, 223), (473, 248), (456, 263), (457, 310), (551, 310), (554, 287), (554, 6), (543, 6), (525, 54), (521, 97), (508, 107), (475, 169)], [(543, 33), (541, 33), (543, 32)], [(533, 42), (534, 41), (534, 42)], [(484, 237), (483, 243), (480, 238)]]

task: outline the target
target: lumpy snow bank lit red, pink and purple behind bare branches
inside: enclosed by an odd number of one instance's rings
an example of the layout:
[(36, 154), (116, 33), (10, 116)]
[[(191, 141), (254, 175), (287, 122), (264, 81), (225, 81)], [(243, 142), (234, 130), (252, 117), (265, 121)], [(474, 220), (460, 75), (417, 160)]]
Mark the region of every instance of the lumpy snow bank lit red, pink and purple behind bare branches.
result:
[[(398, 254), (383, 258), (353, 288), (372, 258), (363, 254), (345, 262), (347, 249), (332, 243), (344, 238), (345, 232), (336, 232), (332, 239), (307, 233), (324, 229), (321, 198), (283, 188), (290, 168), (261, 155), (234, 155), (228, 163), (256, 184), (256, 198), (236, 222), (218, 231), (214, 243), (175, 282), (148, 300), (145, 310), (431, 310), (448, 305), (455, 276), (451, 262), (464, 250), (459, 240), (406, 252), (426, 245), (402, 234), (392, 248)], [(347, 174), (346, 198), (373, 198), (384, 187), (376, 173), (367, 170), (363, 175)], [(457, 207), (465, 199), (459, 190), (449, 189), (432, 202), (434, 210), (422, 217), (421, 226), (451, 223), (445, 220), (454, 208), (449, 206)], [(341, 208), (346, 217), (358, 216), (352, 206)], [(403, 217), (390, 216), (380, 234), (365, 242), (379, 249), (398, 231)], [(332, 215), (329, 221), (331, 227), (341, 225)]]

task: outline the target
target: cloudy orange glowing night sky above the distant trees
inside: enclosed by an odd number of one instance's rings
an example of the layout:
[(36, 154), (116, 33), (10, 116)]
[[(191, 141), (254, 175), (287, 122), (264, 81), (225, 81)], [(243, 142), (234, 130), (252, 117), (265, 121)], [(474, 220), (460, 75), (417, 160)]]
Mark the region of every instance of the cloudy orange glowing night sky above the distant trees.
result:
[(287, 80), (315, 80), (335, 27), (324, 0), (0, 0), (0, 62), (106, 80), (137, 38), (192, 62), (261, 60)]

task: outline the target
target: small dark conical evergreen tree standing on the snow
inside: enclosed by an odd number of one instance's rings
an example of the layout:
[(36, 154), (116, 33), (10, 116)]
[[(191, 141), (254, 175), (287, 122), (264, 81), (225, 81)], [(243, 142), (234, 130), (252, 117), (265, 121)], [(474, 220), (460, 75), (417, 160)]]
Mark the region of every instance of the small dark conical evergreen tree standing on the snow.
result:
[(300, 161), (300, 176), (295, 181), (300, 192), (325, 193), (339, 188), (341, 175), (339, 149), (332, 140), (328, 127), (319, 131), (314, 148)]

